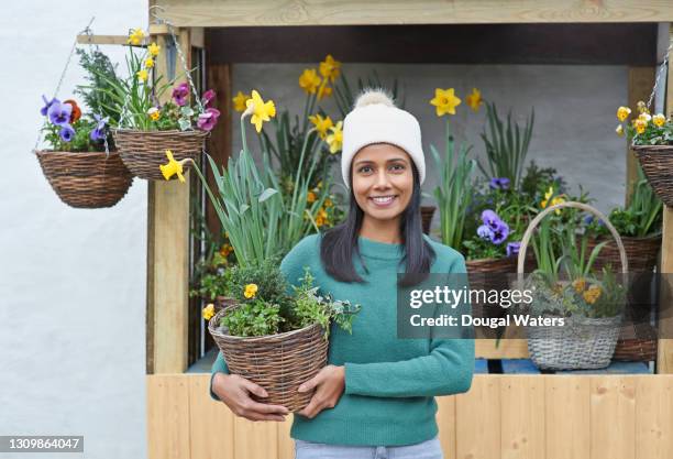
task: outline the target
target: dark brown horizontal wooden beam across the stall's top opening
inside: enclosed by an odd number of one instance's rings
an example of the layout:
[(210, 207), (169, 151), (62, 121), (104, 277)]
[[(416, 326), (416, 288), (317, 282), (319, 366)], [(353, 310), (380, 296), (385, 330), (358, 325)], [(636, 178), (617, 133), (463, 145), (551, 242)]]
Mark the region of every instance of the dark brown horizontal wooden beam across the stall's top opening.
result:
[(657, 30), (657, 24), (442, 24), (242, 26), (206, 33), (217, 64), (318, 62), (330, 53), (349, 63), (652, 67)]

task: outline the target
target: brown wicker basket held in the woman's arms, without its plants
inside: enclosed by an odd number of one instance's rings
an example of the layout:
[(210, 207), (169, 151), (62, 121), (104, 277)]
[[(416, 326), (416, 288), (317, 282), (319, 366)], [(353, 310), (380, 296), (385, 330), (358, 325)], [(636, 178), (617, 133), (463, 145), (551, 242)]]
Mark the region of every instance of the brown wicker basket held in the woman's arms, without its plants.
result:
[(220, 310), (208, 323), (208, 330), (222, 351), (230, 372), (264, 387), (267, 397), (251, 394), (257, 402), (283, 405), (290, 412), (306, 407), (313, 393), (297, 392), (297, 389), (327, 365), (324, 329), (313, 324), (264, 337), (231, 336), (220, 327), (220, 318), (236, 307)]

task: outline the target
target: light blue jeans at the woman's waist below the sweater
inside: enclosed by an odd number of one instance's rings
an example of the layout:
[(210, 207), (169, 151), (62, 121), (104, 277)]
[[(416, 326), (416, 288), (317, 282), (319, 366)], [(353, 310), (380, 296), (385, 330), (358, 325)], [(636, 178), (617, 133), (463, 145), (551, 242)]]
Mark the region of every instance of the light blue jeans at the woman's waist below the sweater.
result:
[(327, 445), (295, 440), (295, 459), (444, 459), (439, 437), (406, 446)]

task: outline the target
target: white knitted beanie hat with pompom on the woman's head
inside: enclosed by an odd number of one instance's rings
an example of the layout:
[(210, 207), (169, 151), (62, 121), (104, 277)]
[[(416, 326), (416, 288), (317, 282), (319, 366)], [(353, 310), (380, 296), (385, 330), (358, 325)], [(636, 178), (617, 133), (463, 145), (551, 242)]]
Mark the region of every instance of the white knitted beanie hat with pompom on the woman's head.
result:
[(416, 164), (420, 185), (426, 179), (426, 157), (421, 145), (420, 124), (413, 114), (395, 107), (383, 89), (365, 89), (355, 107), (343, 120), (341, 174), (349, 187), (351, 162), (355, 154), (372, 143), (390, 143), (405, 150)]

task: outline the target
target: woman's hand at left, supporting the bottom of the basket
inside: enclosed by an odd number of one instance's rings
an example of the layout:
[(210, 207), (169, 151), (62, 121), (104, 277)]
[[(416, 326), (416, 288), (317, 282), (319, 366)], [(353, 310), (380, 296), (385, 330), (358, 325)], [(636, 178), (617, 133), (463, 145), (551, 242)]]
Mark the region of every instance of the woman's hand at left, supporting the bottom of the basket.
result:
[(258, 403), (251, 398), (253, 393), (261, 397), (268, 396), (258, 384), (238, 374), (217, 373), (212, 379), (212, 392), (240, 417), (250, 420), (285, 420), (289, 413), (285, 406)]

